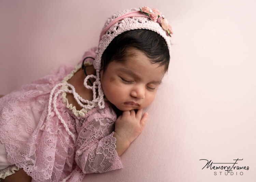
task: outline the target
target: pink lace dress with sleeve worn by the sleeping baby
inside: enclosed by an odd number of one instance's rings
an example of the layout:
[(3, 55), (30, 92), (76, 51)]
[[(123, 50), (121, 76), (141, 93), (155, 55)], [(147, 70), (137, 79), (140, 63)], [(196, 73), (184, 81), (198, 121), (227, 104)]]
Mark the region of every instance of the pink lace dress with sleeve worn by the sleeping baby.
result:
[(0, 174), (23, 168), (32, 182), (76, 182), (87, 173), (123, 168), (113, 137), (116, 114), (108, 101), (104, 109), (77, 111), (68, 103), (66, 93), (58, 95), (57, 110), (75, 136), (75, 143), (53, 107), (46, 121), (51, 90), (80, 68), (81, 63), (75, 69), (61, 66), (57, 72), (0, 98), (0, 141), (8, 161), (15, 164), (0, 170)]

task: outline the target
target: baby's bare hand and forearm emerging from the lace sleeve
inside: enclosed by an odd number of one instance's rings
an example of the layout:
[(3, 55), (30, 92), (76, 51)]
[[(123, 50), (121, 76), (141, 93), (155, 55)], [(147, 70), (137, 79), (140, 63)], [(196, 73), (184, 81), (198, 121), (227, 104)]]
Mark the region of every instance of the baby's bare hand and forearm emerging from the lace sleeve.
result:
[(124, 111), (123, 114), (117, 118), (113, 137), (116, 138), (116, 151), (118, 156), (121, 156), (131, 142), (142, 132), (148, 114), (144, 113), (143, 117), (141, 117), (142, 109), (139, 109), (137, 113), (135, 113), (134, 110)]

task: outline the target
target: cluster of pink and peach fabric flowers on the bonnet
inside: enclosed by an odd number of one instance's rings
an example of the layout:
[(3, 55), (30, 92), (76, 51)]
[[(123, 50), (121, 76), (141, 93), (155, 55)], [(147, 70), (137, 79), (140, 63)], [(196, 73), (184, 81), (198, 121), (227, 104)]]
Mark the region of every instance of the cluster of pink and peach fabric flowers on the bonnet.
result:
[(161, 15), (161, 13), (157, 9), (151, 9), (147, 6), (142, 6), (140, 8), (140, 11), (145, 15), (149, 16), (152, 21), (159, 23), (162, 26), (163, 30), (165, 30), (171, 37), (171, 34), (173, 34), (172, 27), (171, 25), (169, 25), (169, 22), (167, 21), (165, 16)]

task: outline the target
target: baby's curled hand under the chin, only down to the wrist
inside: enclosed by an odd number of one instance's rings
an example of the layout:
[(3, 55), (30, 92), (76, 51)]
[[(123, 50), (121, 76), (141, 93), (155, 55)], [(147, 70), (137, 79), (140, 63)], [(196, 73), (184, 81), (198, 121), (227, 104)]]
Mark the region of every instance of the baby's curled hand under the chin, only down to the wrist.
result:
[(122, 138), (124, 142), (128, 142), (128, 145), (137, 138), (142, 132), (143, 127), (146, 124), (148, 113), (144, 113), (142, 117), (142, 109), (139, 109), (137, 113), (134, 110), (123, 111), (115, 122), (115, 132)]

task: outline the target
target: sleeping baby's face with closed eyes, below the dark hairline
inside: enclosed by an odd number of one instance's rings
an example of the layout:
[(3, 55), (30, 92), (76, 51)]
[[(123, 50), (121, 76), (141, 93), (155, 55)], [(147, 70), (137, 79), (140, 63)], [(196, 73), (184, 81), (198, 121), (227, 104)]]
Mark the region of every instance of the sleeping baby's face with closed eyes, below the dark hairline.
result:
[(101, 70), (101, 85), (106, 98), (119, 110), (142, 109), (152, 103), (164, 75), (164, 66), (152, 64), (141, 51), (127, 50), (126, 61), (112, 61)]

